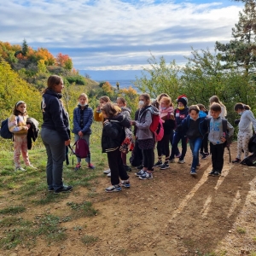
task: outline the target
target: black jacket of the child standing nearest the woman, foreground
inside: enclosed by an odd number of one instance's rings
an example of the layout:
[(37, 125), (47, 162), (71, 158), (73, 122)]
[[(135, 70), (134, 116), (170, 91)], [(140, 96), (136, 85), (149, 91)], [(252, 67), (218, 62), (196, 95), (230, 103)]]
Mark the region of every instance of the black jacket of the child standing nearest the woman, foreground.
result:
[(102, 129), (102, 153), (107, 153), (119, 148), (125, 140), (125, 127), (130, 128), (130, 121), (125, 115), (118, 114), (103, 125)]

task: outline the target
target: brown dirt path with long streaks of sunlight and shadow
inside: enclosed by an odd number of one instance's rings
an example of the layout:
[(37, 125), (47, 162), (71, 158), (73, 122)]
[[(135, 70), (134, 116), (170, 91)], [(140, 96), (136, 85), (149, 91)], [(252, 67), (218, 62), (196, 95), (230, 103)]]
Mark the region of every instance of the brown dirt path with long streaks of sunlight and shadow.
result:
[[(207, 159), (194, 178), (189, 153), (185, 164), (156, 170), (152, 180), (139, 180), (133, 169), (131, 189), (107, 194), (108, 177), (100, 177), (90, 191), (74, 189), (57, 207), (33, 208), (32, 216), (63, 215), (67, 201), (89, 200), (99, 214), (63, 223), (68, 238), (55, 246), (38, 241), (31, 250), (18, 246), (0, 255), (256, 255), (256, 168), (234, 166), (225, 153), (223, 176), (208, 177)], [(96, 195), (88, 198), (92, 191)], [(97, 241), (86, 246), (80, 239), (84, 235)]]

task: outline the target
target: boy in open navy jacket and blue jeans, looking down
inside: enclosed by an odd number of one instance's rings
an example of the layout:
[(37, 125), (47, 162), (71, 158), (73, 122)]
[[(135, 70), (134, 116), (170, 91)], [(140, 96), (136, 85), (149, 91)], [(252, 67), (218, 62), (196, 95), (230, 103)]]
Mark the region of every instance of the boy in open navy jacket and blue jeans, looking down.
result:
[(193, 160), (190, 174), (196, 176), (196, 166), (199, 166), (199, 150), (203, 137), (207, 133), (207, 119), (199, 116), (200, 109), (197, 105), (189, 107), (189, 115), (183, 119), (177, 130), (182, 130), (189, 138)]

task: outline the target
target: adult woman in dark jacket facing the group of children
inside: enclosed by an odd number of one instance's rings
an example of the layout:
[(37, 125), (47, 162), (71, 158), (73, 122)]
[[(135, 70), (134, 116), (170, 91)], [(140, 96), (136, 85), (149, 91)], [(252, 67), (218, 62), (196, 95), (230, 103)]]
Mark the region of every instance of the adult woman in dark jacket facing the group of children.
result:
[(72, 186), (64, 185), (62, 182), (65, 146), (70, 144), (67, 113), (60, 101), (63, 88), (61, 77), (51, 75), (42, 102), (44, 123), (41, 137), (47, 153), (47, 184), (49, 192), (55, 191), (55, 194), (73, 189)]

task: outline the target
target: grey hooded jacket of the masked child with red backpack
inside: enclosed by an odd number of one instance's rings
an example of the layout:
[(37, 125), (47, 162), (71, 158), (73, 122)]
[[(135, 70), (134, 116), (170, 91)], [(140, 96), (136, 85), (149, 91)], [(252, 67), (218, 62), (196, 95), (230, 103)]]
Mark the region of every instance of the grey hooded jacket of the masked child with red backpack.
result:
[(152, 123), (152, 114), (160, 115), (159, 109), (151, 105), (140, 109), (138, 119), (135, 121), (138, 140), (146, 140), (154, 137), (153, 132), (149, 129)]

